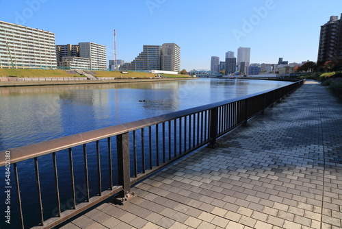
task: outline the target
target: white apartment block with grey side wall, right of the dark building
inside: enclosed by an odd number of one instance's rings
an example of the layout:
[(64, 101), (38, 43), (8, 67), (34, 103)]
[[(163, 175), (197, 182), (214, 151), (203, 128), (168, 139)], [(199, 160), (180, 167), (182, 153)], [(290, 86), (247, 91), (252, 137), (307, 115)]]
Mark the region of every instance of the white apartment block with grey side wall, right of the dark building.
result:
[(107, 50), (105, 45), (91, 42), (79, 43), (79, 57), (90, 59), (91, 70), (107, 70)]

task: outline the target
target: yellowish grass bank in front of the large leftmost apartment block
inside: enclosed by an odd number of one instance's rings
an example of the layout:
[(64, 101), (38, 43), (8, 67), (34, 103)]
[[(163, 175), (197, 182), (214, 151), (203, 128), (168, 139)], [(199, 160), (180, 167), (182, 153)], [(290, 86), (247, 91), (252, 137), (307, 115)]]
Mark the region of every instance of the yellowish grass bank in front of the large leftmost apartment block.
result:
[(70, 74), (64, 70), (47, 69), (0, 69), (3, 77), (82, 77), (78, 74)]

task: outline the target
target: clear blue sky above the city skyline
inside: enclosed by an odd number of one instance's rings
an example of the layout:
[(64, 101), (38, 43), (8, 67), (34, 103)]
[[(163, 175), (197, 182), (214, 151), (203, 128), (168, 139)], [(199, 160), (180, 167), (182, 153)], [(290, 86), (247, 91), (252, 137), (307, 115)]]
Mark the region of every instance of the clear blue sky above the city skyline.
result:
[(92, 42), (131, 62), (143, 45), (176, 43), (181, 69), (250, 47), (251, 63), (317, 60), (320, 26), (341, 0), (0, 0), (0, 21), (55, 33), (56, 45)]

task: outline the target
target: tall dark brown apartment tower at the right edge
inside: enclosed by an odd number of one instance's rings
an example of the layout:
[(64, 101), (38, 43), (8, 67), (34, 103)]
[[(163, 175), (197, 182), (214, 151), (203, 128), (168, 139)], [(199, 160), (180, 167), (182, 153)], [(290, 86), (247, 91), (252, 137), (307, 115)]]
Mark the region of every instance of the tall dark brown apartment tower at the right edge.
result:
[(342, 60), (342, 14), (330, 16), (330, 20), (321, 26), (317, 62)]

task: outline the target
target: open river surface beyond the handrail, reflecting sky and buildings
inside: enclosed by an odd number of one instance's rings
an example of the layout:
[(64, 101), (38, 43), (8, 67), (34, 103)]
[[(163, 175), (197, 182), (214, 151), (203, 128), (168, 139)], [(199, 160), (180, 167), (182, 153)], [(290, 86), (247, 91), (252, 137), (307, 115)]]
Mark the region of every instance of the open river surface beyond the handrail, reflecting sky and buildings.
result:
[(0, 150), (211, 104), (286, 84), (289, 83), (199, 79), (0, 88)]

